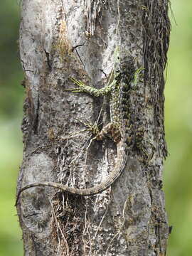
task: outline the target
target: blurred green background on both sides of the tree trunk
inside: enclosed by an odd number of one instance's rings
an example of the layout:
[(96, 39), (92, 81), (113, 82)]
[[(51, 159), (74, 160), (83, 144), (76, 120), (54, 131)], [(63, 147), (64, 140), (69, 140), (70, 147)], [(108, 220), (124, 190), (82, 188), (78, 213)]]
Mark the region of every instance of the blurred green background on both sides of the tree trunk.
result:
[[(192, 1), (171, 0), (172, 31), (166, 82), (164, 191), (169, 225), (168, 256), (192, 255)], [(1, 1), (0, 9), (0, 255), (23, 255), (14, 208), (22, 159), (23, 73), (19, 63), (19, 1)]]

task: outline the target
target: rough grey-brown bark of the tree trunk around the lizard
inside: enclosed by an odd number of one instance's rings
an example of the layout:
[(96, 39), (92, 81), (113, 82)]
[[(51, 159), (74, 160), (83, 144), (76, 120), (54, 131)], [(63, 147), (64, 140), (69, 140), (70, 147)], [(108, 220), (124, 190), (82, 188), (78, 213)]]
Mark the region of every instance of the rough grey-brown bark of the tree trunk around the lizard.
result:
[[(36, 181), (85, 188), (115, 163), (110, 139), (90, 142), (78, 121), (109, 122), (108, 99), (65, 89), (68, 77), (102, 87), (120, 45), (144, 67), (131, 95), (134, 126), (144, 139), (112, 188), (83, 198), (31, 188), (18, 204), (25, 255), (166, 255), (169, 227), (162, 191), (164, 68), (169, 46), (168, 0), (23, 0), (20, 53), (23, 164), (18, 189)], [(78, 118), (78, 119), (77, 119)]]

